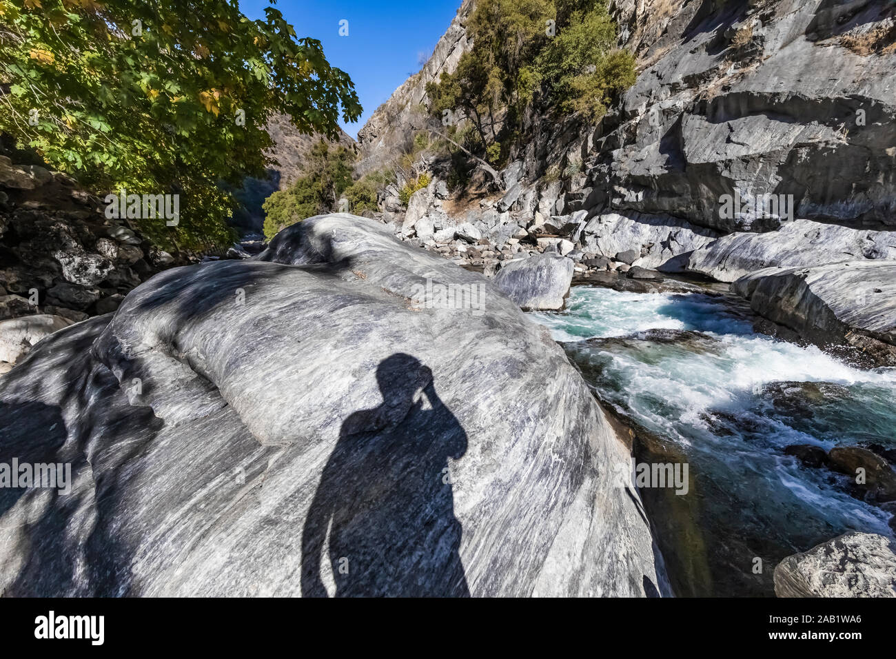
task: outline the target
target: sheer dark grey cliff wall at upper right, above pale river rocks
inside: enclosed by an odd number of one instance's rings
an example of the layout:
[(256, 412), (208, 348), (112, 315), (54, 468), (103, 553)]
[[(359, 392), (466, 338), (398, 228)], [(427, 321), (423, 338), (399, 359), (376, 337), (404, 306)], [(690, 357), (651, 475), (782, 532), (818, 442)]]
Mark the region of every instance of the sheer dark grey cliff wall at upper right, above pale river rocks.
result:
[(772, 230), (783, 213), (732, 217), (719, 197), (792, 195), (797, 218), (896, 227), (891, 2), (669, 5), (616, 3), (644, 68), (593, 145), (609, 208)]

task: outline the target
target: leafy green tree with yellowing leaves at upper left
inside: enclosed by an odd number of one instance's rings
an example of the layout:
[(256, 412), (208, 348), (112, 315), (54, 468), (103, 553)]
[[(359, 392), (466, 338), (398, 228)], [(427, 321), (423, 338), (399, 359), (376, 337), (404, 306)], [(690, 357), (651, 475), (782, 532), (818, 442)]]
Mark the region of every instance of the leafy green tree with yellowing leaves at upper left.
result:
[(96, 192), (181, 195), (159, 245), (231, 239), (228, 184), (274, 164), (274, 113), (335, 137), (360, 116), (349, 75), (282, 14), (237, 0), (0, 0), (0, 132)]

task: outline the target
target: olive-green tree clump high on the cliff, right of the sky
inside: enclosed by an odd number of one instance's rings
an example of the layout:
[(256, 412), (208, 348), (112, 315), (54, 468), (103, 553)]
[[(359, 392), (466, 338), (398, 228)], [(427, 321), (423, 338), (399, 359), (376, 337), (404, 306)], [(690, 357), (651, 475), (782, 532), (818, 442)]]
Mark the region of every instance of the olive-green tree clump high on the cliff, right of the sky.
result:
[(426, 91), (435, 117), (469, 119), (473, 151), (492, 163), (521, 139), (533, 103), (594, 119), (634, 82), (606, 0), (479, 0), (467, 32), (473, 47)]

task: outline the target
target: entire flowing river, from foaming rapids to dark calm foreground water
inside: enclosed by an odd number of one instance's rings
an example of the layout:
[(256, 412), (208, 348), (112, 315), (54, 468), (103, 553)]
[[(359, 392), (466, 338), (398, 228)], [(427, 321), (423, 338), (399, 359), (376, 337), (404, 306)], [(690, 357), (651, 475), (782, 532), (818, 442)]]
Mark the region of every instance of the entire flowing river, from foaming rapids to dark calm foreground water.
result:
[(849, 530), (892, 535), (848, 476), (785, 448), (896, 448), (896, 369), (757, 334), (722, 295), (582, 286), (531, 316), (634, 429), (636, 461), (689, 465), (687, 494), (641, 490), (676, 594), (771, 595), (788, 554)]

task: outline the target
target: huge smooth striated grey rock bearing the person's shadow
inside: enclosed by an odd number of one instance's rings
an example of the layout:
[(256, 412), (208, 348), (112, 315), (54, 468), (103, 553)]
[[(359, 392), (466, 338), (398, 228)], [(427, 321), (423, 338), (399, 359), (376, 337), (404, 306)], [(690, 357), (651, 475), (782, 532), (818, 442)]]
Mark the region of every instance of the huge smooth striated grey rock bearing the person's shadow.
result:
[(354, 216), (48, 337), (0, 429), (0, 460), (72, 465), (70, 494), (0, 490), (6, 595), (668, 593), (608, 475), (630, 456), (547, 331)]

